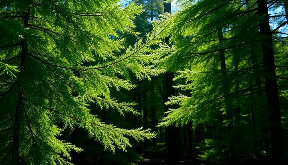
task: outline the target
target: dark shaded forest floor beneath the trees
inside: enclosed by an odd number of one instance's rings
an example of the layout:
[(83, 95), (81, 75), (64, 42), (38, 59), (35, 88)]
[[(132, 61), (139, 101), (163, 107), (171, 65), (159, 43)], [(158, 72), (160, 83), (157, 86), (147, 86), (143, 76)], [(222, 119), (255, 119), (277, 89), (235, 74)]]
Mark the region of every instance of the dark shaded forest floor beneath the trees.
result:
[[(143, 146), (142, 146), (143, 147)], [(137, 150), (137, 149), (136, 149)], [(167, 149), (164, 144), (144, 147), (138, 151), (120, 152), (116, 154), (107, 153), (104, 156), (86, 155), (74, 161), (75, 165), (230, 165), (228, 158), (223, 158), (219, 162), (199, 160), (199, 149), (189, 151), (188, 149), (179, 150), (179, 163), (166, 162)], [(224, 154), (225, 155), (225, 154)], [(227, 157), (229, 156), (226, 153)], [(268, 165), (264, 155), (249, 154), (238, 159), (239, 165)], [(275, 164), (276, 165), (276, 164)]]

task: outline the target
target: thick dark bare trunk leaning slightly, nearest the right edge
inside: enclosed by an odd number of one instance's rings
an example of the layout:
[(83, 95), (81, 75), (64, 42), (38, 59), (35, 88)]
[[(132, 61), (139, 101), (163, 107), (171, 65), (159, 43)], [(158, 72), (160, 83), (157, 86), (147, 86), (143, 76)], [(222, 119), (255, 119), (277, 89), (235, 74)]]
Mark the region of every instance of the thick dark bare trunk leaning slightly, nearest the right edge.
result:
[(281, 113), (278, 98), (278, 87), (275, 72), (274, 52), (272, 45), (272, 33), (270, 31), (268, 7), (266, 0), (257, 0), (261, 48), (264, 64), (265, 91), (267, 97), (268, 117), (272, 147), (272, 158), (281, 164), (285, 164), (284, 138), (281, 125)]

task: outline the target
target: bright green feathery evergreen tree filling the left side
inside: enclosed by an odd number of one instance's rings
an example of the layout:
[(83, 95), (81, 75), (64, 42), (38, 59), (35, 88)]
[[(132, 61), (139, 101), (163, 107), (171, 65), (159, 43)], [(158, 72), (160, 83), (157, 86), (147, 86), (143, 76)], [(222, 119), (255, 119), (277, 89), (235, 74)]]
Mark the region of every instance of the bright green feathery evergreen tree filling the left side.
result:
[(160, 58), (151, 48), (161, 42), (158, 33), (128, 48), (118, 39), (119, 32), (137, 35), (132, 19), (142, 11), (118, 0), (1, 1), (1, 61), (20, 71), (16, 79), (1, 75), (1, 164), (71, 164), (69, 151), (82, 149), (58, 137), (75, 127), (112, 152), (132, 147), (128, 137), (156, 136), (107, 125), (89, 109), (96, 104), (139, 114), (135, 103), (118, 102), (110, 89), (131, 90), (131, 76), (149, 80), (163, 73), (153, 64)]

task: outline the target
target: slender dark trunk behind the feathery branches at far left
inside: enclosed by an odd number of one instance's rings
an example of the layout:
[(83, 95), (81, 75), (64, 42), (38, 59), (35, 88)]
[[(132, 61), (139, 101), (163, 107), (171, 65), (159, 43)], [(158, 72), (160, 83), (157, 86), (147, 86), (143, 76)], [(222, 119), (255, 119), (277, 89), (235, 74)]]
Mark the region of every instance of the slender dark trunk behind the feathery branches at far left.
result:
[[(30, 4), (30, 1), (29, 1)], [(28, 5), (27, 10), (25, 11), (24, 15), (24, 28), (27, 28), (29, 25), (29, 15), (30, 15), (30, 5)], [(20, 164), (20, 156), (19, 156), (19, 139), (20, 139), (20, 117), (23, 115), (23, 109), (21, 108), (22, 101), (23, 101), (23, 91), (22, 91), (22, 75), (23, 75), (23, 68), (25, 64), (25, 58), (27, 56), (27, 39), (24, 36), (24, 39), (22, 41), (22, 46), (21, 46), (21, 65), (20, 65), (20, 74), (18, 76), (18, 81), (19, 85), (21, 87), (20, 91), (18, 91), (18, 101), (16, 104), (16, 109), (15, 109), (15, 118), (14, 118), (14, 129), (13, 129), (13, 139), (12, 139), (12, 158), (11, 158), (11, 164)]]

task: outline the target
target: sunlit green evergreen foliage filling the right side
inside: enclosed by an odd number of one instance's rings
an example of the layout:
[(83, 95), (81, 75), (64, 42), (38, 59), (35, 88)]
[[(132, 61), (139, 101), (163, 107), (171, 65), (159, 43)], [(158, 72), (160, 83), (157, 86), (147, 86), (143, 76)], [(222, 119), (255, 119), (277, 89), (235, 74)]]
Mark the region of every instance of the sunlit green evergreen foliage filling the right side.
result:
[[(176, 71), (175, 88), (183, 94), (172, 96), (165, 103), (178, 105), (178, 108), (170, 109), (159, 126), (168, 127), (174, 123), (180, 126), (190, 121), (193, 121), (193, 128), (202, 123), (210, 125), (213, 138), (204, 140), (200, 146), (206, 149), (200, 156), (205, 160), (221, 158), (224, 147), (230, 152), (232, 164), (236, 164), (238, 156), (257, 150), (253, 143), (257, 142), (257, 137), (263, 137), (267, 157), (271, 154), (271, 138), (274, 160), (283, 161), (284, 142), (277, 106), (287, 104), (281, 94), (287, 90), (287, 78), (283, 75), (284, 70), (287, 72), (287, 61), (283, 61), (285, 55), (275, 48), (281, 44), (282, 49), (287, 49), (283, 1), (178, 2), (181, 9), (172, 15), (162, 15), (159, 23), (160, 27), (166, 27), (161, 36), (170, 36), (173, 45), (162, 44), (158, 51), (166, 56), (159, 62), (159, 68)], [(267, 5), (273, 13), (270, 17), (275, 18), (270, 20), (270, 25), (275, 25), (271, 31), (267, 31), (267, 24), (264, 24), (268, 20), (264, 13)], [(273, 52), (267, 53), (268, 49), (273, 50), (269, 46), (270, 39), (275, 43), (274, 56)], [(276, 67), (278, 63), (285, 66), (282, 70), (276, 69), (277, 77), (282, 79), (278, 79), (279, 95), (276, 97), (270, 86), (271, 82), (276, 83), (274, 57)], [(277, 92), (277, 86), (274, 87), (273, 91)]]

